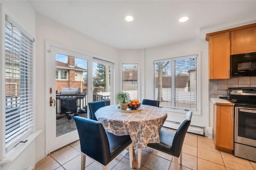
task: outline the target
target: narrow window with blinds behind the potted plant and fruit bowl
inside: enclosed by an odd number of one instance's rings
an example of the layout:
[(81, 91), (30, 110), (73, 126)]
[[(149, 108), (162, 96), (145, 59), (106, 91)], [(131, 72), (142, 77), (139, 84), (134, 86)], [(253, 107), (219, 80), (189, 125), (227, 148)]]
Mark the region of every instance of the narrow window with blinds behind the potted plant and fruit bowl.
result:
[(130, 94), (130, 99), (138, 99), (138, 64), (122, 64), (122, 91)]

